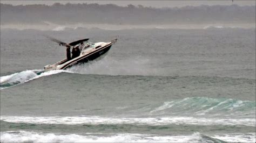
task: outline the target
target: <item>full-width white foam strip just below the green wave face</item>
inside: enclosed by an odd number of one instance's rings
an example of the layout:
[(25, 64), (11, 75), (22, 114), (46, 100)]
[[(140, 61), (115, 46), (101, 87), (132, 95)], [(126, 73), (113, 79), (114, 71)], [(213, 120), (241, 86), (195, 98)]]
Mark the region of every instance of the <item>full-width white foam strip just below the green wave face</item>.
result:
[(29, 116), (1, 116), (1, 120), (10, 123), (30, 124), (137, 124), (137, 125), (246, 125), (255, 126), (254, 118), (199, 118), (199, 117), (159, 117), (159, 118), (118, 118), (118, 117), (29, 117)]

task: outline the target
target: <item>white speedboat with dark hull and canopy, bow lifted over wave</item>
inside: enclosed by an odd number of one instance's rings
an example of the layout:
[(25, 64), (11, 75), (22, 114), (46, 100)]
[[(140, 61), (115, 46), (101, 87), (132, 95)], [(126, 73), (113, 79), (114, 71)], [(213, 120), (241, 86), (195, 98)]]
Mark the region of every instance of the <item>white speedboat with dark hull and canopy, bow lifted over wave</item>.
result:
[[(85, 63), (88, 61), (95, 60), (100, 56), (104, 55), (105, 53), (107, 53), (107, 51), (109, 51), (111, 46), (115, 42), (117, 42), (117, 39), (114, 39), (114, 40), (111, 40), (110, 42), (92, 43), (87, 41), (89, 39), (82, 39), (75, 42), (71, 42), (70, 44), (66, 44), (65, 42), (59, 41), (54, 38), (50, 38), (50, 39), (52, 41), (57, 42), (60, 46), (73, 46), (73, 47), (80, 46), (80, 55), (71, 60), (68, 60), (66, 58), (54, 63), (53, 65), (46, 65), (44, 67), (44, 71), (66, 69), (73, 65), (77, 65), (78, 63)], [(80, 43), (83, 43), (83, 45), (81, 45)]]

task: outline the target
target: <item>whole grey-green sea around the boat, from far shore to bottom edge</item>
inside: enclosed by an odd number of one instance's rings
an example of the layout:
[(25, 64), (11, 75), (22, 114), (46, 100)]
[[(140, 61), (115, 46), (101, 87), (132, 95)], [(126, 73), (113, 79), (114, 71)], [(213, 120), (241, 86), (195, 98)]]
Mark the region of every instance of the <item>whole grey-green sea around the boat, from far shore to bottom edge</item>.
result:
[[(46, 39), (118, 38), (65, 58)], [(1, 142), (255, 141), (255, 28), (1, 29)]]

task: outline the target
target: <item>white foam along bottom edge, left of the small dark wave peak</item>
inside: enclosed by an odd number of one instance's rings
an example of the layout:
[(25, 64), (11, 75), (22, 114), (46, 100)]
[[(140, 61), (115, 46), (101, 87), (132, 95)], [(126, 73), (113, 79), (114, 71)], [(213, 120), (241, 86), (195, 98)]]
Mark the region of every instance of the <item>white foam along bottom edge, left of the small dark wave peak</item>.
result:
[(114, 134), (107, 137), (99, 137), (93, 135), (78, 135), (78, 134), (53, 134), (53, 133), (36, 133), (19, 131), (19, 133), (3, 132), (1, 133), (1, 142), (110, 142), (110, 141), (181, 141), (180, 137), (158, 137), (156, 135), (143, 134)]

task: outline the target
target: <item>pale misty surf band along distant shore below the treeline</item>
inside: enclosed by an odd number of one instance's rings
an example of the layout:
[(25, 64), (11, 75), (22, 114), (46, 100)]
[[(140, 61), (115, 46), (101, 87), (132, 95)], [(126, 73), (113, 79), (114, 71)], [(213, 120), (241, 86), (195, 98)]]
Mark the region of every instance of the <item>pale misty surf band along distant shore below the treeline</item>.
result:
[(5, 28), (11, 28), (16, 30), (26, 30), (26, 29), (34, 29), (34, 30), (43, 30), (43, 31), (62, 31), (66, 29), (74, 29), (77, 28), (99, 28), (101, 30), (130, 30), (130, 29), (207, 29), (207, 28), (255, 28), (254, 23), (230, 23), (230, 24), (143, 24), (143, 25), (129, 25), (129, 24), (85, 24), (85, 23), (73, 23), (73, 24), (56, 24), (51, 22), (43, 22), (42, 24), (2, 24), (1, 30)]

